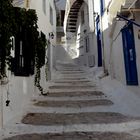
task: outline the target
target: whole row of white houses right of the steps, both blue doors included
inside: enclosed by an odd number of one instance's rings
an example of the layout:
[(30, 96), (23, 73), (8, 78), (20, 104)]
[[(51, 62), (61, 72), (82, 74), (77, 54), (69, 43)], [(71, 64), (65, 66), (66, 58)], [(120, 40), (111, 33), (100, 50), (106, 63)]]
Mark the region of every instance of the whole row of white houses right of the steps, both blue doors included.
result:
[(139, 0), (67, 0), (64, 22), (68, 51), (77, 63), (101, 67), (137, 93), (139, 6)]

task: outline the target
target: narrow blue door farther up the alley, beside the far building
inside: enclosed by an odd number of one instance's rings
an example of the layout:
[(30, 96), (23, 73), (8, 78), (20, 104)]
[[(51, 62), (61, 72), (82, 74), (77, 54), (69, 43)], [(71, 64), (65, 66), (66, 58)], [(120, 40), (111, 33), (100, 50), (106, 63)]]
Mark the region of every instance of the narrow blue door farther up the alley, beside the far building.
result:
[(102, 43), (100, 30), (100, 17), (96, 19), (97, 47), (98, 47), (98, 67), (102, 67)]

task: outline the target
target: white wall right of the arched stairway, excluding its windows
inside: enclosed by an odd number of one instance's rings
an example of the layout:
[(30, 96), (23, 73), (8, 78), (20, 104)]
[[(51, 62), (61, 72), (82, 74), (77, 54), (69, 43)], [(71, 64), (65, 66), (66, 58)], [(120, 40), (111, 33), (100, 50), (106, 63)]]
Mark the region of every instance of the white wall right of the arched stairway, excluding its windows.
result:
[[(84, 24), (81, 23), (81, 11), (84, 11)], [(78, 63), (84, 66), (91, 66), (89, 59), (95, 62), (95, 48), (94, 48), (94, 18), (93, 18), (93, 1), (86, 0), (80, 8), (77, 19), (77, 39), (76, 48), (78, 51)], [(86, 52), (86, 41), (88, 38), (88, 49)], [(92, 65), (93, 66), (93, 65)]]

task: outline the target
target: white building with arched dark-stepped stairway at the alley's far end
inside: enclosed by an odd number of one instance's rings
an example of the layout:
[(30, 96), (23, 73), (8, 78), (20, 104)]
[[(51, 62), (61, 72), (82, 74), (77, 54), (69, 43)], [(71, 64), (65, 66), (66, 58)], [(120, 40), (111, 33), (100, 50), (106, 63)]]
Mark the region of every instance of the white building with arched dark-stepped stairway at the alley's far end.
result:
[(80, 65), (95, 66), (93, 1), (67, 0), (64, 23), (70, 55)]

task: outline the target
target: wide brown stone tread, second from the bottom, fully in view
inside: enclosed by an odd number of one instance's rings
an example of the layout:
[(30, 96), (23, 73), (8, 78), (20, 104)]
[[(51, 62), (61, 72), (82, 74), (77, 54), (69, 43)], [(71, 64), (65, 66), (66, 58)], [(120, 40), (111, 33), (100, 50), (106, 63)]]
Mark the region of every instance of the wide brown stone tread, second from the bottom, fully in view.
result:
[(23, 119), (23, 124), (29, 125), (73, 125), (73, 124), (113, 124), (139, 120), (114, 112), (87, 112), (78, 114), (60, 113), (28, 113)]

